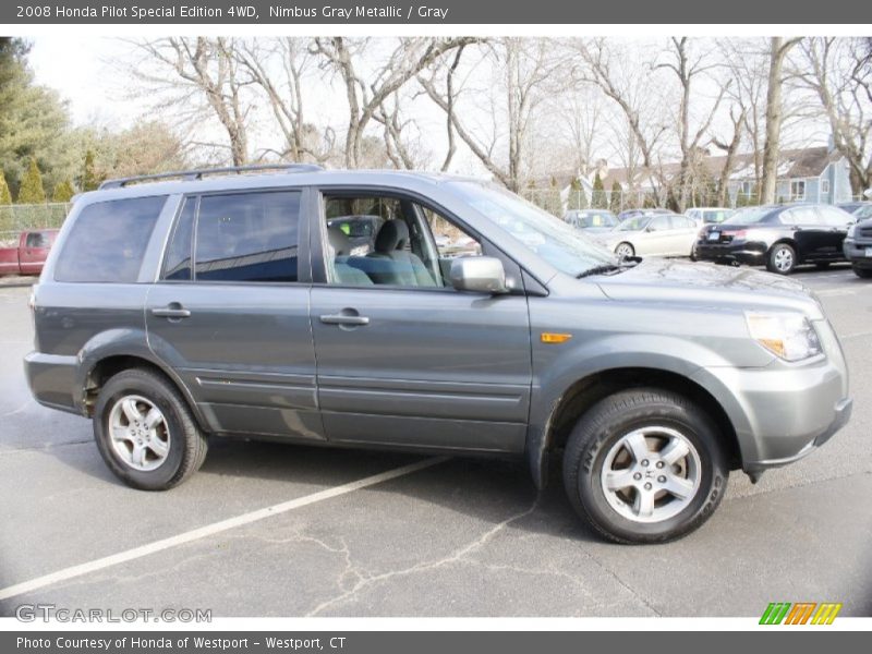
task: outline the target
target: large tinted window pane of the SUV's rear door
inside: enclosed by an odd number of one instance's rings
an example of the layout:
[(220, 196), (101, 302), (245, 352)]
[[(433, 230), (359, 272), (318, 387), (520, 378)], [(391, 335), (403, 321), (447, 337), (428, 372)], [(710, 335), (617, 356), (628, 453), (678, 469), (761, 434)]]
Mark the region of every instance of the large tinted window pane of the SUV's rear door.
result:
[(196, 280), (296, 281), (299, 226), (299, 191), (201, 197)]

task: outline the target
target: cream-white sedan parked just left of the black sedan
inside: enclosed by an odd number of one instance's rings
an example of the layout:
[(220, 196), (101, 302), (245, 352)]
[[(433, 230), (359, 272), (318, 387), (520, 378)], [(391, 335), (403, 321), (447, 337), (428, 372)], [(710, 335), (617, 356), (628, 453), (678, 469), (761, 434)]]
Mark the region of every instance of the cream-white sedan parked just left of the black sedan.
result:
[(698, 232), (699, 225), (692, 218), (678, 214), (655, 214), (628, 218), (614, 230), (594, 234), (594, 238), (622, 258), (689, 256)]

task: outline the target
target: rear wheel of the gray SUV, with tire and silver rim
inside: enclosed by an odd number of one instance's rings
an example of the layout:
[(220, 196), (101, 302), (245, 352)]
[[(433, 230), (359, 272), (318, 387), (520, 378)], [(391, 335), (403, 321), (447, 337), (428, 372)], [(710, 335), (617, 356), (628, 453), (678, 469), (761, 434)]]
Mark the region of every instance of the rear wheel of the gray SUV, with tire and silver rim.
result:
[(94, 437), (109, 469), (143, 491), (166, 491), (206, 458), (206, 436), (184, 398), (161, 376), (129, 370), (110, 378), (97, 398)]

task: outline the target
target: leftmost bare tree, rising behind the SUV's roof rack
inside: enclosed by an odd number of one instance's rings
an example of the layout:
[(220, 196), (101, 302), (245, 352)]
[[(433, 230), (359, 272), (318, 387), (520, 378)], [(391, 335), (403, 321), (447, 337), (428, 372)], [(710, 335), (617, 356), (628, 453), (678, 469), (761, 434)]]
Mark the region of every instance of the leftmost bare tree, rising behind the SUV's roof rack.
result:
[[(234, 166), (249, 159), (247, 118), (251, 101), (244, 87), (250, 82), (239, 74), (232, 38), (169, 37), (134, 41), (146, 55), (145, 66), (133, 73), (159, 94), (168, 93), (169, 102), (179, 107), (203, 99), (220, 122), (228, 138)], [(214, 145), (214, 144), (209, 144)]]

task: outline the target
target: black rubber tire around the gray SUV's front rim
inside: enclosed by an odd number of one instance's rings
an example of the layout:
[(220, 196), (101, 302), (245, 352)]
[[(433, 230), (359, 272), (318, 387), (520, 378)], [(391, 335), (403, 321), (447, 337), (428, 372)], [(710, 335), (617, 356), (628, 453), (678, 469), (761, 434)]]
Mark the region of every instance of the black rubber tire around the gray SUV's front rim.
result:
[[(603, 487), (603, 475), (606, 459), (621, 438), (645, 428), (670, 429), (691, 444), (699, 457), (699, 468), (694, 473), (699, 482), (686, 501), (659, 492), (663, 495), (656, 501), (666, 507), (665, 519), (640, 522), (626, 517), (610, 504)], [(653, 469), (654, 460), (651, 472), (657, 475), (659, 472)], [(647, 464), (646, 461), (642, 463)], [(670, 468), (675, 469), (674, 465)], [(693, 468), (697, 468), (695, 462)], [(685, 481), (690, 481), (688, 473), (686, 476)], [(728, 479), (724, 444), (708, 416), (682, 396), (654, 388), (620, 391), (594, 404), (576, 424), (564, 455), (564, 485), (572, 507), (600, 534), (617, 543), (665, 543), (687, 535), (702, 525), (717, 508)], [(646, 483), (645, 480), (642, 477), (640, 485)], [(652, 493), (657, 493), (657, 489)], [(671, 501), (679, 504), (674, 505), (677, 512), (668, 516)], [(629, 502), (626, 507), (625, 511), (632, 511)], [(662, 508), (657, 510), (663, 511)]]

